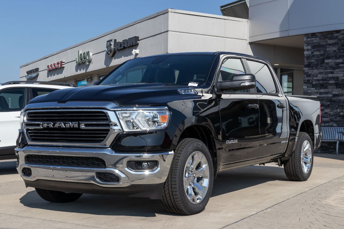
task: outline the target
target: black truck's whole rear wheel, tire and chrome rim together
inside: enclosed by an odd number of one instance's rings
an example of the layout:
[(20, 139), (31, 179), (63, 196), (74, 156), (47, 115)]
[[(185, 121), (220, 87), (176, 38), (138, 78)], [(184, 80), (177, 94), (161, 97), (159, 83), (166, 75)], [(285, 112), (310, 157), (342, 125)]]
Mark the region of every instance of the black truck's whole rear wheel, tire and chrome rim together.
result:
[(284, 162), (284, 172), (291, 181), (307, 181), (313, 168), (313, 145), (311, 137), (300, 132), (295, 151)]

